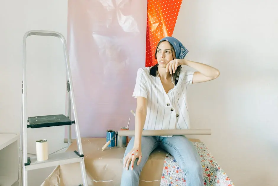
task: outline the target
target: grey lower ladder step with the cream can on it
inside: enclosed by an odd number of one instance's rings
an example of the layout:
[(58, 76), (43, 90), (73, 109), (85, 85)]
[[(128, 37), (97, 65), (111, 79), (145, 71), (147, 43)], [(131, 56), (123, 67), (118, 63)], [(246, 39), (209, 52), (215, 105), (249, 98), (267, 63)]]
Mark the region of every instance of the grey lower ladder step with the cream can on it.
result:
[[(37, 161), (37, 157), (30, 158), (30, 165), (25, 165), (25, 170), (34, 170), (38, 168), (46, 168), (52, 166), (58, 166), (69, 163), (77, 163), (83, 160), (83, 155), (78, 155), (78, 152), (67, 151), (54, 153), (48, 156), (48, 160), (45, 161)], [(29, 158), (28, 158), (29, 159)]]

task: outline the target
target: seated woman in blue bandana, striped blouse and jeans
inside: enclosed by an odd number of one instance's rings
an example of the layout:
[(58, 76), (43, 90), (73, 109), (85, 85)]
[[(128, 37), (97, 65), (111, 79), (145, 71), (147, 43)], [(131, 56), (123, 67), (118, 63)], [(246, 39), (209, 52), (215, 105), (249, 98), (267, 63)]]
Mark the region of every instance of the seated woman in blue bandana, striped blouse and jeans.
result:
[[(139, 185), (139, 175), (156, 147), (169, 152), (186, 174), (188, 186), (201, 186), (203, 169), (193, 144), (185, 136), (142, 136), (143, 130), (190, 128), (186, 86), (216, 79), (211, 66), (185, 60), (188, 50), (174, 37), (165, 37), (155, 53), (157, 64), (138, 69), (133, 97), (137, 98), (135, 136), (123, 158), (121, 185)], [(190, 66), (196, 72), (187, 71)]]

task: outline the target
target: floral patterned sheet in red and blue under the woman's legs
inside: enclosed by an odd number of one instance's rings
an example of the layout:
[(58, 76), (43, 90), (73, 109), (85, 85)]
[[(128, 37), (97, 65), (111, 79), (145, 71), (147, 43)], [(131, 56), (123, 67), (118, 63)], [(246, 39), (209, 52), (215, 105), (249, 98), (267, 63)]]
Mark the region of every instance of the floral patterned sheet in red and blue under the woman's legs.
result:
[[(201, 158), (203, 167), (204, 185), (209, 186), (233, 186), (233, 182), (222, 170), (203, 142), (192, 142)], [(167, 153), (164, 160), (160, 186), (186, 185), (186, 176), (179, 168), (174, 157)]]

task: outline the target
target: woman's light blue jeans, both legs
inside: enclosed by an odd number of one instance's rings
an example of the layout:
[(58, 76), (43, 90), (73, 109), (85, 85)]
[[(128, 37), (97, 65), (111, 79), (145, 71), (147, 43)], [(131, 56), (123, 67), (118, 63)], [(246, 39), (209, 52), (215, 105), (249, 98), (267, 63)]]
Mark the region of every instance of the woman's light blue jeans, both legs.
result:
[[(134, 144), (134, 137), (128, 143), (125, 155), (132, 150)], [(203, 168), (201, 166), (201, 160), (192, 142), (190, 142), (185, 136), (142, 136), (142, 160), (139, 166), (137, 166), (138, 158), (134, 162), (133, 170), (131, 166), (126, 170), (123, 168), (121, 186), (138, 186), (139, 176), (143, 169), (143, 166), (148, 160), (151, 152), (156, 147), (161, 147), (165, 151), (169, 152), (177, 161), (180, 168), (186, 175), (187, 186), (203, 186)], [(162, 170), (161, 170), (162, 171)]]

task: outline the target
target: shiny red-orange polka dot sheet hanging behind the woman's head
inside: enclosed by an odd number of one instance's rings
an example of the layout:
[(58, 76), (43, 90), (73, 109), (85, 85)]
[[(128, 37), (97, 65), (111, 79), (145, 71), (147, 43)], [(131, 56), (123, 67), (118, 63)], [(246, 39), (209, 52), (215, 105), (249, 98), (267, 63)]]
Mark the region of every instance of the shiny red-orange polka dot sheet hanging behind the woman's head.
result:
[(160, 39), (172, 36), (181, 4), (181, 0), (148, 0), (146, 67), (157, 63), (156, 45)]

